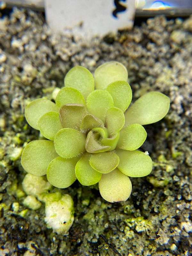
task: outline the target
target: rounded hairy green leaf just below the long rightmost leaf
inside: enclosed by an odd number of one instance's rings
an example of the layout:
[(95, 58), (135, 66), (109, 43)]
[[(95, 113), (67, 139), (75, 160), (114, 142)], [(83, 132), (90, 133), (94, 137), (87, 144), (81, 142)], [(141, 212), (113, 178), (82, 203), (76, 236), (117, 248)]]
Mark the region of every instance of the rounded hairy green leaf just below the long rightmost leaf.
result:
[(140, 124), (130, 124), (120, 131), (117, 148), (135, 150), (140, 148), (147, 138), (147, 132)]

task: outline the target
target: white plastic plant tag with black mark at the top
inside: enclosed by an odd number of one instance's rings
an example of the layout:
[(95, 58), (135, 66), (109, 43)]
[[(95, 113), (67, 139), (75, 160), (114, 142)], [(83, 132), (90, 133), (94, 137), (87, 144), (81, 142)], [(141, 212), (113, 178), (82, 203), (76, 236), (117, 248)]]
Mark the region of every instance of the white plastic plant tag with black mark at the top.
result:
[(135, 0), (45, 0), (45, 14), (53, 32), (104, 36), (132, 28)]

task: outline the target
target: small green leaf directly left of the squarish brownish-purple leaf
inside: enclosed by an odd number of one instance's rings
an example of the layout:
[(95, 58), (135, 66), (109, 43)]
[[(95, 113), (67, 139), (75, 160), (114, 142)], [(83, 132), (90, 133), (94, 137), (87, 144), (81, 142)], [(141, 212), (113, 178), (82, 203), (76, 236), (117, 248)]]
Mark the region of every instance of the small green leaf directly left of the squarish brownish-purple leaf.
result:
[(59, 113), (47, 112), (38, 121), (40, 132), (49, 140), (54, 140), (55, 134), (62, 129)]

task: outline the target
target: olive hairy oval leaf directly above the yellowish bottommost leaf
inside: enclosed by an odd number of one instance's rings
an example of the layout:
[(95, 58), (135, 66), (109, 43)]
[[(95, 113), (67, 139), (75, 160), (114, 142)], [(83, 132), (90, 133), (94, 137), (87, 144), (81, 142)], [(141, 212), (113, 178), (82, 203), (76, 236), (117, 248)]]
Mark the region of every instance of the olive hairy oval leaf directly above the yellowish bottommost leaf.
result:
[(92, 154), (90, 165), (93, 169), (100, 173), (108, 173), (113, 171), (119, 164), (119, 157), (114, 152), (103, 152)]

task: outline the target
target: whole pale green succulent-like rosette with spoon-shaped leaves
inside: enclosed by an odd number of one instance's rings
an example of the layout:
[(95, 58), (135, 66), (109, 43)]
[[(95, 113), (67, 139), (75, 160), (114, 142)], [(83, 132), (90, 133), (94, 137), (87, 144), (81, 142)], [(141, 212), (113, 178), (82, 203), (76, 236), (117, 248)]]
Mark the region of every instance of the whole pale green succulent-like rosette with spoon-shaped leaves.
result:
[(57, 188), (76, 179), (84, 186), (99, 182), (108, 202), (127, 200), (129, 176), (143, 177), (152, 170), (150, 156), (138, 150), (147, 137), (142, 125), (161, 120), (170, 106), (164, 94), (148, 92), (129, 107), (127, 78), (126, 68), (116, 61), (99, 66), (94, 77), (76, 66), (65, 76), (55, 103), (44, 98), (29, 103), (27, 122), (47, 140), (33, 140), (24, 148), (25, 171), (46, 174)]

